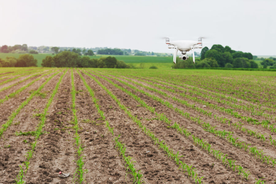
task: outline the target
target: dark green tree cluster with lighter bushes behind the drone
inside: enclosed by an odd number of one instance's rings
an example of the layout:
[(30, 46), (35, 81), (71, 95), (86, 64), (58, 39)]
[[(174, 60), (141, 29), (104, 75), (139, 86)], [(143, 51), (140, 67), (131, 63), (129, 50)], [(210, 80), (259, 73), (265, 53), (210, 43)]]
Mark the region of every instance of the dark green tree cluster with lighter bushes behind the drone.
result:
[[(234, 51), (229, 46), (215, 44), (209, 50), (204, 47), (201, 50), (201, 59), (198, 59), (195, 65), (192, 63), (192, 58), (183, 61), (179, 60), (178, 65), (174, 68), (210, 68), (210, 67), (225, 67), (225, 68), (258, 68), (258, 64), (253, 60), (253, 55), (247, 52)], [(192, 63), (192, 64), (191, 64)]]

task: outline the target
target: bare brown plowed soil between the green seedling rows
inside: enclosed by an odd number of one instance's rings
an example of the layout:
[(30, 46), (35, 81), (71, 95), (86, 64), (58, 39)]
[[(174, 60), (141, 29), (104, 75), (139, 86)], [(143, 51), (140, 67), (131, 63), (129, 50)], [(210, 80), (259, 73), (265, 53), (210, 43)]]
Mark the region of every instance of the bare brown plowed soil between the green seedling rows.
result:
[[(100, 109), (104, 112), (106, 119), (103, 121), (101, 115), (95, 107), (95, 104), (86, 89), (81, 77), (77, 70), (85, 79), (88, 86), (94, 92), (94, 97), (97, 99), (97, 103)], [(50, 70), (49, 70), (50, 71)], [(13, 119), (12, 124), (3, 132), (0, 138), (0, 184), (15, 183), (17, 174), (20, 171), (20, 166), (26, 161), (26, 153), (31, 148), (29, 143), (32, 143), (35, 139), (34, 136), (17, 136), (16, 132), (32, 132), (36, 131), (36, 127), (39, 124), (40, 114), (44, 112), (50, 95), (54, 90), (56, 83), (59, 81), (61, 75), (65, 71), (60, 69), (60, 73), (54, 76), (40, 91), (39, 94), (25, 105), (16, 117)], [(194, 102), (189, 98), (180, 96), (178, 93), (162, 90), (156, 86), (150, 85), (147, 82), (150, 80), (144, 79), (141, 81), (138, 76), (133, 77), (120, 70), (93, 70), (93, 69), (73, 69), (74, 85), (76, 90), (75, 96), (75, 109), (77, 110), (77, 120), (79, 126), (79, 135), (82, 143), (83, 153), (83, 170), (85, 170), (85, 181), (82, 183), (132, 183), (132, 175), (126, 173), (126, 163), (122, 159), (122, 155), (115, 147), (114, 137), (120, 135), (119, 140), (125, 144), (125, 155), (132, 157), (135, 161), (134, 166), (136, 171), (140, 170), (143, 174), (144, 183), (195, 183), (194, 179), (188, 176), (187, 172), (182, 172), (178, 169), (178, 165), (175, 161), (168, 157), (163, 149), (159, 149), (159, 145), (154, 144), (151, 138), (146, 135), (141, 128), (136, 125), (134, 121), (122, 110), (117, 102), (110, 97), (110, 95), (89, 75), (95, 77), (102, 85), (104, 85), (109, 91), (111, 91), (133, 116), (136, 116), (141, 123), (149, 128), (151, 132), (158, 137), (159, 140), (165, 141), (169, 148), (174, 153), (182, 155), (181, 160), (192, 165), (197, 171), (198, 177), (203, 177), (204, 183), (218, 183), (218, 184), (230, 184), (230, 183), (255, 183), (256, 180), (265, 180), (266, 183), (276, 182), (275, 167), (271, 164), (261, 161), (252, 155), (248, 150), (240, 149), (229, 143), (227, 139), (223, 139), (215, 134), (206, 131), (202, 126), (198, 125), (194, 121), (187, 119), (180, 113), (177, 113), (173, 109), (166, 105), (157, 102), (148, 95), (143, 94), (133, 88), (119, 82), (116, 79), (127, 82), (129, 85), (136, 87), (139, 90), (155, 95), (169, 102), (174, 108), (178, 108), (184, 112), (190, 114), (191, 117), (200, 117), (202, 121), (209, 123), (212, 126), (216, 126), (218, 130), (225, 130), (233, 132), (233, 137), (238, 138), (239, 141), (243, 141), (246, 144), (250, 144), (251, 147), (256, 147), (263, 150), (265, 155), (270, 158), (276, 158), (276, 146), (271, 145), (268, 142), (268, 135), (272, 139), (276, 139), (275, 132), (270, 132), (267, 128), (263, 128), (261, 125), (251, 125), (247, 121), (240, 120), (227, 113), (220, 112), (218, 110), (205, 107), (205, 110), (212, 112), (212, 114), (231, 119), (231, 121), (240, 121), (243, 127), (257, 130), (259, 133), (263, 133), (266, 137), (266, 141), (257, 139), (254, 136), (250, 136), (247, 132), (236, 129), (231, 124), (228, 125), (220, 123), (213, 116), (209, 117), (203, 113), (200, 113), (194, 109), (191, 109), (171, 97), (180, 98), (186, 100), (194, 106), (202, 107), (202, 104)], [(14, 97), (10, 97), (7, 101), (0, 105), (0, 125), (5, 124), (11, 114), (30, 96), (32, 91), (37, 90), (43, 82), (45, 82), (50, 76), (57, 71), (51, 72), (45, 75), (40, 80), (27, 87)], [(0, 73), (0, 76), (8, 74), (7, 72)], [(44, 73), (43, 73), (44, 74)], [(37, 75), (24, 82), (0, 92), (0, 99), (5, 98), (6, 95), (13, 93), (14, 91), (26, 86), (32, 80), (39, 78), (41, 75)], [(9, 78), (2, 79), (1, 82), (8, 80), (16, 76), (11, 75)], [(24, 80), (29, 75), (18, 78), (11, 82), (6, 82), (6, 87), (14, 84), (20, 80)], [(144, 76), (147, 77), (147, 76)], [(236, 165), (241, 165), (243, 168), (250, 171), (248, 180), (243, 177), (243, 174), (238, 174), (237, 171), (224, 165), (221, 160), (216, 159), (212, 153), (208, 153), (201, 147), (194, 144), (192, 136), (186, 138), (186, 136), (180, 134), (173, 128), (168, 128), (168, 125), (156, 117), (155, 113), (151, 113), (147, 108), (143, 107), (140, 102), (136, 101), (129, 94), (125, 93), (121, 89), (114, 86), (108, 80), (114, 84), (123, 87), (130, 91), (132, 94), (139, 97), (147, 105), (154, 107), (155, 112), (164, 114), (173, 124), (178, 123), (182, 127), (186, 128), (193, 135), (204, 139), (206, 142), (212, 145), (212, 148), (219, 150), (228, 155), (228, 158), (236, 160)], [(129, 82), (130, 79), (133, 82)], [(159, 80), (159, 79), (156, 79)], [(160, 80), (161, 81), (161, 80)], [(64, 75), (58, 91), (48, 109), (46, 115), (45, 126), (43, 127), (43, 134), (40, 136), (36, 143), (33, 157), (30, 159), (29, 168), (24, 172), (24, 181), (27, 184), (67, 184), (78, 183), (78, 174), (76, 173), (76, 145), (75, 145), (75, 130), (74, 130), (74, 115), (72, 112), (72, 86), (71, 86), (71, 69)], [(138, 82), (143, 86), (137, 85), (134, 82)], [(151, 81), (152, 82), (152, 81)], [(155, 84), (170, 88), (169, 86)], [(155, 89), (149, 90), (146, 87)], [(172, 89), (172, 88), (171, 88)], [(156, 90), (160, 90), (166, 93), (164, 96)], [(199, 97), (205, 100), (203, 97)], [(209, 103), (217, 104), (220, 107), (224, 105), (216, 103), (215, 101), (209, 101)], [(250, 103), (250, 102), (248, 102)], [(228, 106), (225, 106), (229, 108)], [(238, 109), (239, 113), (247, 117), (252, 117), (260, 121), (265, 120), (265, 117), (252, 115), (244, 110)], [(108, 128), (105, 126), (105, 121), (109, 122), (111, 128), (113, 128), (114, 134), (112, 135)], [(70, 173), (69, 177), (59, 177), (59, 171), (63, 173)], [(129, 172), (129, 171), (127, 171)], [(198, 183), (198, 182), (197, 182)]]

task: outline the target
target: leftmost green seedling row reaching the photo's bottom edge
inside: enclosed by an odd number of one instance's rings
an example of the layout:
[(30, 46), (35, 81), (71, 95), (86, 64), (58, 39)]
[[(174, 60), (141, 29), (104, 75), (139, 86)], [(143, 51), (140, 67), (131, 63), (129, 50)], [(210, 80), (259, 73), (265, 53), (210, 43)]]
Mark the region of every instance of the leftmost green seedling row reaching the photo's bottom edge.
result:
[[(63, 79), (63, 76), (66, 74), (67, 70), (63, 73), (63, 75), (61, 75), (61, 77), (59, 78), (59, 81), (56, 83), (55, 89), (53, 90), (53, 92), (51, 94), (51, 97), (48, 99), (48, 103), (47, 103), (46, 107), (44, 108), (44, 113), (40, 117), (40, 122), (36, 127), (36, 131), (35, 132), (32, 131), (30, 134), (27, 134), (27, 135), (35, 136), (35, 140), (34, 140), (33, 143), (30, 144), (31, 149), (29, 151), (27, 151), (27, 153), (25, 155), (27, 160), (25, 162), (23, 162), (22, 165), (19, 166), (21, 169), (20, 169), (19, 173), (17, 174), (16, 178), (14, 179), (17, 184), (24, 184), (25, 183), (25, 181), (24, 181), (24, 178), (25, 178), (24, 172), (26, 174), (27, 170), (29, 169), (30, 159), (33, 158), (33, 153), (34, 153), (35, 148), (36, 148), (37, 140), (39, 139), (40, 135), (43, 133), (42, 128), (44, 127), (44, 124), (45, 124), (45, 121), (46, 121), (46, 114), (48, 112), (49, 106), (51, 105), (51, 103), (53, 101), (53, 98), (56, 95), (57, 90), (59, 88), (59, 84), (60, 84), (61, 80)], [(55, 76), (55, 75), (52, 75), (52, 77)], [(49, 79), (51, 79), (51, 78), (49, 78)], [(29, 132), (20, 132), (19, 134), (21, 134), (21, 133), (22, 133), (22, 135), (25, 135), (26, 133), (29, 133)], [(24, 166), (25, 166), (25, 170), (23, 169)]]

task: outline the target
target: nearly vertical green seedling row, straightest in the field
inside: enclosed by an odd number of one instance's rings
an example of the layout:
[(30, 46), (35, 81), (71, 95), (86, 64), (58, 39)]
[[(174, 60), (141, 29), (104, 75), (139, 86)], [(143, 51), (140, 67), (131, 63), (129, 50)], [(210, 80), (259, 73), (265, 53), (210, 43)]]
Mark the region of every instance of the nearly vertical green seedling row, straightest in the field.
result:
[[(76, 160), (76, 163), (77, 163), (77, 166), (78, 168), (76, 169), (75, 173), (74, 173), (74, 178), (75, 178), (75, 174), (78, 175), (78, 180), (79, 180), (79, 184), (81, 184), (82, 182), (86, 182), (85, 181), (85, 177), (84, 177), (84, 174), (87, 173), (88, 171), (87, 170), (83, 170), (83, 165), (84, 165), (84, 162), (82, 160), (82, 158), (84, 157), (82, 155), (82, 151), (84, 149), (84, 147), (82, 147), (82, 144), (81, 144), (81, 139), (80, 139), (80, 136), (78, 134), (78, 130), (79, 130), (79, 127), (78, 127), (78, 118), (77, 118), (77, 115), (76, 115), (76, 109), (75, 109), (75, 97), (76, 97), (76, 90), (75, 90), (75, 85), (74, 85), (74, 74), (73, 74), (73, 69), (71, 68), (71, 86), (72, 86), (72, 91), (71, 91), (71, 95), (72, 95), (72, 111), (73, 111), (73, 115), (74, 115), (74, 129), (75, 129), (75, 144), (77, 146), (77, 160)], [(75, 181), (74, 181), (75, 182)]]

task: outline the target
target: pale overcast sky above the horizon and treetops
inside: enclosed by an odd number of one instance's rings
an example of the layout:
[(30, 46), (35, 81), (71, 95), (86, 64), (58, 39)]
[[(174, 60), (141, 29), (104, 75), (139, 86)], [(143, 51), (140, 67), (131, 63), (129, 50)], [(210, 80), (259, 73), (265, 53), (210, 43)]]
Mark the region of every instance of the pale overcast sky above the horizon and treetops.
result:
[[(203, 39), (276, 55), (275, 0), (0, 0), (0, 45), (130, 48), (173, 53), (170, 40)], [(195, 52), (200, 52), (195, 49)]]

